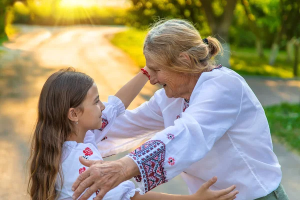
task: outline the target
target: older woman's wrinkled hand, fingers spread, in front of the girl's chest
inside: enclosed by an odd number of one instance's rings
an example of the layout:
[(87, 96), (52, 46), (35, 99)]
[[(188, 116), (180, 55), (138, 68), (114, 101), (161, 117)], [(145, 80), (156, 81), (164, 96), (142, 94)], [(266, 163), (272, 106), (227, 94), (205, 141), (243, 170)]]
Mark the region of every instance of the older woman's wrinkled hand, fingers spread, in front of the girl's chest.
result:
[(88, 188), (79, 200), (86, 200), (98, 189), (100, 192), (94, 200), (100, 200), (110, 189), (139, 174), (138, 166), (127, 156), (115, 161), (87, 160), (83, 157), (79, 157), (79, 160), (89, 168), (73, 183), (72, 199), (77, 199)]

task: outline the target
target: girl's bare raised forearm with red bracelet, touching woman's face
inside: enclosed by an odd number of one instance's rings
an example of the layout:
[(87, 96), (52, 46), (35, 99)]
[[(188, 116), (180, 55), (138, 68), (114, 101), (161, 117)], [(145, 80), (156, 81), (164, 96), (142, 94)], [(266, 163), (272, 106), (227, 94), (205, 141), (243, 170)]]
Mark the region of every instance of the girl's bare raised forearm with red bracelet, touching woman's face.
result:
[[(144, 69), (149, 72), (147, 66), (145, 66)], [(138, 72), (131, 80), (129, 80), (129, 82), (115, 93), (115, 96), (121, 99), (125, 108), (127, 108), (147, 81), (148, 77), (145, 74)]]

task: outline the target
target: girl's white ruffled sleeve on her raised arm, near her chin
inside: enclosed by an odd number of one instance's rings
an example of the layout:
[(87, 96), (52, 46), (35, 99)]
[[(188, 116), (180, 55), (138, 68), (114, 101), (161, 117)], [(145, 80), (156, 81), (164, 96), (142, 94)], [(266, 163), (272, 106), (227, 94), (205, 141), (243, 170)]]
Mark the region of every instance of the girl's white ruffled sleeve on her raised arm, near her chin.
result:
[(105, 135), (113, 125), (117, 116), (124, 114), (124, 103), (116, 96), (108, 96), (108, 101), (103, 102), (105, 109), (102, 111), (102, 127), (91, 130), (94, 133), (96, 143), (105, 139)]

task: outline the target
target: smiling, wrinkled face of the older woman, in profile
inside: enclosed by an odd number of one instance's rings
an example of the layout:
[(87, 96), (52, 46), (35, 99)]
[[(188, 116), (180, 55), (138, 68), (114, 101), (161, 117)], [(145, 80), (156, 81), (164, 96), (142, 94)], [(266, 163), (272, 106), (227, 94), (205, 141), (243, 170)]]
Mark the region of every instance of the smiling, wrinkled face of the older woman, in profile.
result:
[[(190, 91), (190, 76), (170, 71), (167, 68), (152, 62), (146, 58), (146, 66), (150, 69), (150, 83), (160, 84), (165, 90), (167, 97), (171, 98), (189, 98)], [(194, 86), (194, 85), (193, 85)]]

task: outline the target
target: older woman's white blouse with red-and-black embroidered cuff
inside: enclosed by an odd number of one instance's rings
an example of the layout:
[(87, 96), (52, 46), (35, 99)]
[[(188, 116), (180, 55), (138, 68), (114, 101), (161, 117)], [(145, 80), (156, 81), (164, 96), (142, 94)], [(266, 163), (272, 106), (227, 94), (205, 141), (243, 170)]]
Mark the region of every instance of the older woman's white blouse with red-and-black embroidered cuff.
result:
[(106, 137), (97, 139), (102, 156), (149, 139), (127, 155), (140, 169), (135, 179), (143, 192), (180, 173), (194, 193), (216, 175), (212, 189), (236, 184), (237, 199), (255, 199), (281, 180), (264, 110), (245, 80), (226, 67), (203, 72), (189, 101), (157, 90), (119, 116)]

